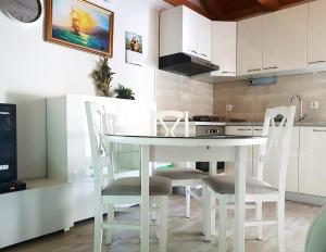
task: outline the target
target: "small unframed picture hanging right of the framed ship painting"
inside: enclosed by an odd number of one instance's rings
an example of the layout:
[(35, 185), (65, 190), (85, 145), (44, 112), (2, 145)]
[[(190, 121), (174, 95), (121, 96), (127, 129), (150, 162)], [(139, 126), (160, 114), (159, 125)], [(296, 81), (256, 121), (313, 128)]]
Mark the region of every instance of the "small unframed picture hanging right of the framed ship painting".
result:
[(142, 36), (126, 32), (126, 63), (142, 65)]

